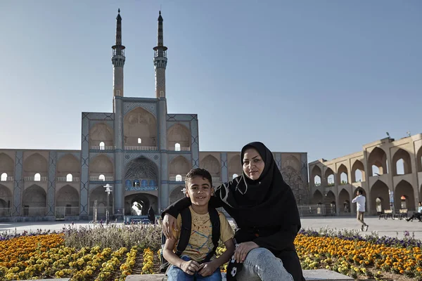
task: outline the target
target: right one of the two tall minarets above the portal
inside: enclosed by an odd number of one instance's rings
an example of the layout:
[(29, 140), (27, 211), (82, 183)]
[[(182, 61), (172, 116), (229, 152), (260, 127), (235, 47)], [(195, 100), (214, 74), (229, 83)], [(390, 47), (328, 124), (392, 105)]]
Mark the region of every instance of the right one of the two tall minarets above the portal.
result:
[(154, 49), (155, 97), (165, 98), (165, 67), (167, 66), (167, 47), (162, 39), (162, 16), (158, 17), (157, 46)]

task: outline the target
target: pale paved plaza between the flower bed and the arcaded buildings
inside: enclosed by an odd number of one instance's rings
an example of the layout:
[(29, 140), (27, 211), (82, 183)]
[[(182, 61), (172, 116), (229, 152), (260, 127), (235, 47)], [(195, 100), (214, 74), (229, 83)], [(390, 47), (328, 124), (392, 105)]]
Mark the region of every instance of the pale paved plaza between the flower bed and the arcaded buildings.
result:
[[(380, 236), (400, 237), (404, 235), (404, 231), (409, 231), (412, 235), (414, 233), (417, 239), (422, 240), (422, 223), (416, 221), (402, 221), (388, 218), (385, 220), (378, 217), (368, 217), (365, 219), (369, 224), (368, 232), (362, 232), (363, 235), (370, 234), (372, 231), (378, 232)], [(25, 222), (25, 223), (0, 223), (0, 233), (4, 231), (21, 233), (24, 230), (60, 230), (65, 225), (68, 227), (71, 221), (53, 221), (53, 222)], [(75, 221), (75, 226), (89, 226), (87, 221)], [(320, 228), (333, 229), (349, 229), (357, 230), (359, 223), (354, 217), (321, 217), (321, 218), (302, 218), (302, 228), (312, 228), (319, 230)], [(398, 235), (397, 235), (398, 233)]]

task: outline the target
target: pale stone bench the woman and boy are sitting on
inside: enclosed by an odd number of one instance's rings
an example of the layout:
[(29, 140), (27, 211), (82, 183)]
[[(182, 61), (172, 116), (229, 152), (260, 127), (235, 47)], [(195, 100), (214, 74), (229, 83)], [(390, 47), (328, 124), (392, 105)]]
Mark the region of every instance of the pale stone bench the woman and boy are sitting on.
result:
[[(223, 281), (226, 281), (226, 274), (222, 273)], [(352, 277), (336, 273), (335, 271), (326, 269), (303, 270), (305, 280), (312, 281), (352, 281)], [(146, 274), (146, 275), (129, 275), (126, 281), (165, 281), (167, 277), (164, 274)]]

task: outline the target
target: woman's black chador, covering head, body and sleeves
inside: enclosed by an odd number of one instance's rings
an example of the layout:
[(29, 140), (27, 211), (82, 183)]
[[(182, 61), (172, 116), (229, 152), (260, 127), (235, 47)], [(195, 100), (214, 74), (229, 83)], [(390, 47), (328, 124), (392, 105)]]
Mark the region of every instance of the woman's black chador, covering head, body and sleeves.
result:
[[(241, 152), (255, 148), (265, 163), (260, 178), (252, 181), (244, 173), (229, 183), (215, 188), (210, 207), (224, 207), (234, 218), (236, 242), (253, 241), (269, 249), (283, 261), (283, 266), (295, 281), (305, 280), (298, 254), (293, 244), (301, 228), (298, 206), (290, 186), (283, 180), (271, 151), (262, 143), (249, 143)], [(167, 207), (174, 217), (191, 204), (189, 198), (181, 199)]]

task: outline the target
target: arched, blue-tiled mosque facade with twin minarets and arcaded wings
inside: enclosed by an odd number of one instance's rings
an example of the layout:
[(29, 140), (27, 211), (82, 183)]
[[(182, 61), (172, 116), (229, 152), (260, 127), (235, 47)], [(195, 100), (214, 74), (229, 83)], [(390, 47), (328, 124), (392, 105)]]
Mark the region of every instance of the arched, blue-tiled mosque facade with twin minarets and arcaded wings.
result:
[[(119, 10), (113, 112), (82, 112), (81, 150), (0, 148), (0, 221), (92, 220), (106, 210), (120, 218), (132, 214), (134, 202), (141, 214), (150, 206), (157, 214), (184, 196), (190, 169), (210, 171), (215, 186), (241, 175), (240, 152), (199, 151), (198, 115), (167, 112), (161, 12), (153, 48), (155, 98), (124, 96), (124, 48)], [(274, 158), (298, 204), (306, 204), (307, 153), (274, 152)]]

